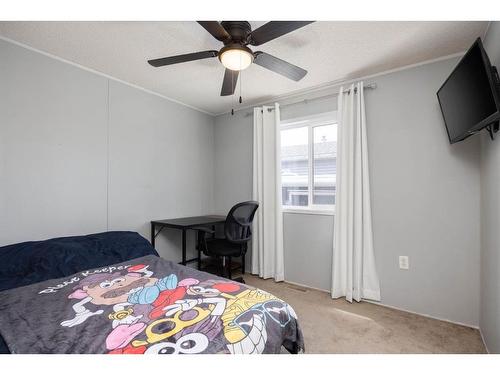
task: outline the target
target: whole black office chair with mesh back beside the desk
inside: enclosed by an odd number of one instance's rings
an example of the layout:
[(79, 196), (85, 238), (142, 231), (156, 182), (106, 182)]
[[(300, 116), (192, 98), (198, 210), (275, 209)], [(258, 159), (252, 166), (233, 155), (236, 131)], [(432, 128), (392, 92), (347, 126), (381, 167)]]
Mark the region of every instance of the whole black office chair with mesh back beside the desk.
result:
[[(206, 227), (196, 227), (198, 230), (198, 251), (220, 259), (219, 276), (231, 279), (232, 258), (241, 257), (241, 274), (245, 274), (245, 254), (248, 250), (248, 241), (252, 238), (251, 225), (259, 203), (255, 201), (241, 202), (233, 206), (227, 214), (224, 223), (224, 237), (216, 238), (215, 232)], [(211, 234), (212, 238), (207, 238)], [(224, 274), (226, 268), (226, 274)], [(244, 283), (243, 277), (235, 281)]]

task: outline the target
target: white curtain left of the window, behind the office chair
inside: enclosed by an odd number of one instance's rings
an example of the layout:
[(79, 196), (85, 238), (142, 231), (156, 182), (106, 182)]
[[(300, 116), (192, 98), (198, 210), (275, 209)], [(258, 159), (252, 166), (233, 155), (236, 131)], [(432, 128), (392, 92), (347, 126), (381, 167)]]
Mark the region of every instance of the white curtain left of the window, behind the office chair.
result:
[(253, 115), (253, 199), (259, 209), (253, 223), (252, 273), (283, 281), (279, 105), (254, 108)]

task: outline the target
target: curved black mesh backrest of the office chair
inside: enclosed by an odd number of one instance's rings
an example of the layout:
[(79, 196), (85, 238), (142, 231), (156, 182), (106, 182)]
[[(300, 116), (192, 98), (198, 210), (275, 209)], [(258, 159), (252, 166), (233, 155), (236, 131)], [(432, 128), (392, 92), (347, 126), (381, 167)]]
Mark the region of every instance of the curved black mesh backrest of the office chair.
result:
[(250, 229), (255, 215), (259, 208), (259, 202), (241, 202), (233, 206), (227, 214), (224, 224), (224, 235), (230, 242), (244, 243), (252, 237)]

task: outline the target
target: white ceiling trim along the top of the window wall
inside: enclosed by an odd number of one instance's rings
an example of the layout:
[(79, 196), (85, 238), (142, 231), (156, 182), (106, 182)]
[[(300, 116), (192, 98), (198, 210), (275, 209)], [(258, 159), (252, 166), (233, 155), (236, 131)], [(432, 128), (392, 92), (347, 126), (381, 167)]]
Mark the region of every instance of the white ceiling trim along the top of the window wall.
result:
[[(362, 76), (362, 77), (357, 77), (357, 78), (352, 78), (352, 79), (349, 79), (349, 80), (336, 80), (336, 81), (332, 81), (332, 82), (322, 83), (320, 85), (309, 87), (307, 89), (297, 90), (297, 91), (290, 92), (288, 94), (278, 95), (278, 96), (272, 97), (270, 99), (267, 99), (266, 101), (250, 102), (250, 104), (246, 105), (245, 107), (239, 108), (235, 112), (244, 111), (244, 110), (249, 109), (249, 108), (259, 107), (259, 106), (266, 105), (266, 104), (269, 104), (269, 103), (284, 102), (286, 100), (291, 100), (291, 99), (294, 99), (294, 98), (297, 98), (297, 97), (302, 97), (302, 96), (314, 94), (314, 93), (317, 93), (319, 91), (325, 91), (325, 90), (329, 90), (329, 89), (330, 90), (331, 89), (336, 89), (336, 88), (338, 88), (341, 85), (346, 85), (346, 84), (349, 84), (349, 83), (352, 83), (352, 82), (361, 81), (361, 80), (367, 80), (367, 79), (372, 79), (372, 78), (384, 76), (384, 75), (387, 75), (387, 74), (392, 74), (392, 73), (400, 72), (400, 71), (403, 71), (403, 70), (413, 69), (413, 68), (417, 68), (419, 66), (423, 66), (423, 65), (427, 65), (427, 64), (432, 64), (432, 63), (435, 63), (435, 62), (439, 62), (439, 61), (443, 61), (443, 60), (449, 60), (449, 59), (452, 59), (454, 57), (461, 57), (461, 56), (463, 56), (463, 54), (465, 52), (466, 51), (457, 52), (457, 53), (453, 53), (451, 55), (441, 56), (441, 57), (437, 57), (435, 59), (425, 60), (425, 61), (421, 61), (421, 62), (418, 62), (418, 63), (415, 63), (415, 64), (405, 65), (405, 66), (402, 66), (402, 67), (399, 67), (399, 68), (385, 70), (383, 72), (374, 73), (374, 74), (370, 74), (370, 75), (366, 75), (366, 76)], [(228, 113), (230, 113), (230, 112), (229, 111), (221, 112), (221, 113), (216, 114), (215, 116), (221, 116), (221, 115), (225, 115), (225, 114), (228, 114)]]

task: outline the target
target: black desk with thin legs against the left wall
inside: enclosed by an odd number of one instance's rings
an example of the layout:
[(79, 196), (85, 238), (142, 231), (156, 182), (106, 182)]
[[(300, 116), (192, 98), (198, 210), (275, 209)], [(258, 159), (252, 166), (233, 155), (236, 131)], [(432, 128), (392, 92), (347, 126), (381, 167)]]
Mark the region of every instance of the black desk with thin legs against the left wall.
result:
[[(199, 226), (212, 226), (223, 224), (226, 221), (225, 216), (220, 215), (207, 215), (207, 216), (192, 216), (192, 217), (179, 217), (176, 219), (154, 220), (151, 221), (151, 245), (155, 247), (155, 238), (160, 234), (163, 228), (173, 228), (182, 231), (182, 262), (180, 264), (186, 265), (191, 262), (198, 262), (198, 269), (201, 265), (201, 254), (198, 251), (198, 256), (193, 259), (186, 259), (186, 231), (193, 227)], [(156, 231), (156, 228), (159, 228)]]

